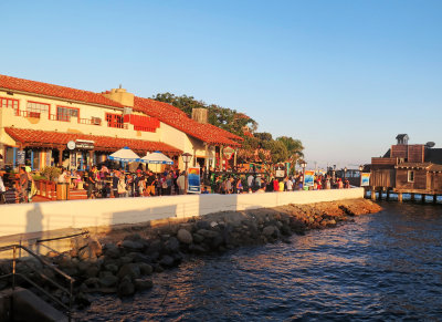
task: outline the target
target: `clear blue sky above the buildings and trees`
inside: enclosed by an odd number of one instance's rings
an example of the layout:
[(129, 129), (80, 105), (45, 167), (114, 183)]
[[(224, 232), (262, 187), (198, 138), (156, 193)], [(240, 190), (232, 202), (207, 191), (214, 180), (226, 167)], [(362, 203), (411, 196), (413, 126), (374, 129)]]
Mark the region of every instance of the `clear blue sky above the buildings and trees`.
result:
[(442, 147), (442, 1), (3, 1), (1, 74), (192, 95), (369, 163), (398, 133)]

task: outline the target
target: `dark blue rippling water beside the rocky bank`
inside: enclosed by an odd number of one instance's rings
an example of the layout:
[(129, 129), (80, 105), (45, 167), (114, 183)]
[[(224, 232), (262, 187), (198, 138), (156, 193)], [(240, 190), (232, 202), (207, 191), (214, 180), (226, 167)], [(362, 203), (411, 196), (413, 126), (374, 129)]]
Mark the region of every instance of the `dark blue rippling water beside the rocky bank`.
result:
[(291, 245), (192, 260), (155, 276), (151, 291), (97, 298), (77, 318), (442, 321), (442, 206), (381, 205), (380, 214), (294, 236)]

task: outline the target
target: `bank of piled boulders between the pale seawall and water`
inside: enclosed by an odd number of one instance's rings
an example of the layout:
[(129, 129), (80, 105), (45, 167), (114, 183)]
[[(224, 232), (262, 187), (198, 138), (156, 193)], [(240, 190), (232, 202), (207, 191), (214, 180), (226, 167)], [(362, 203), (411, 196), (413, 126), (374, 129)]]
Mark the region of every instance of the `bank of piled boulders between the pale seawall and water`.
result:
[[(370, 200), (352, 199), (157, 220), (78, 236), (72, 239), (70, 252), (51, 252), (46, 259), (75, 279), (75, 302), (82, 308), (90, 304), (87, 294), (92, 292), (123, 298), (147, 290), (154, 285), (156, 272), (177, 267), (191, 256), (278, 240), (290, 242), (293, 233), (334, 227), (352, 216), (380, 210)], [(38, 261), (30, 260), (28, 266), (39, 270)], [(33, 274), (31, 270), (22, 273)], [(56, 279), (50, 269), (41, 273)], [(33, 278), (49, 288), (44, 279)], [(62, 292), (53, 295), (69, 302)]]

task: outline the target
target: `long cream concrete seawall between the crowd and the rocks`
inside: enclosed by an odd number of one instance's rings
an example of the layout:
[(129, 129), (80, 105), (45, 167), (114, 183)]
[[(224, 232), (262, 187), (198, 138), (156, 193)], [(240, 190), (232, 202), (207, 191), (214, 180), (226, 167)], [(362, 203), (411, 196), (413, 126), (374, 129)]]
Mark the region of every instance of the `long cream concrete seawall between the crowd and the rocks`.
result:
[(187, 218), (288, 204), (304, 205), (364, 197), (362, 188), (243, 195), (187, 195), (154, 198), (70, 200), (0, 206), (0, 237), (156, 219)]

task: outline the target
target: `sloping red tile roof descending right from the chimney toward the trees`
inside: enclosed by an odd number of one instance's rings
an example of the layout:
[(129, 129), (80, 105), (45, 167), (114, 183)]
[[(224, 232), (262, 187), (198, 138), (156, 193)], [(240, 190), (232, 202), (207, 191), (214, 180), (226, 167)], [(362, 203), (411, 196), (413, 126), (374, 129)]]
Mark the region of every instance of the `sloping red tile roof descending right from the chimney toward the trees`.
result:
[(157, 117), (162, 123), (209, 144), (230, 145), (236, 147), (240, 146), (240, 144), (234, 142), (232, 138), (242, 139), (241, 137), (211, 124), (198, 123), (187, 116), (187, 114), (181, 110), (167, 103), (135, 96), (134, 110)]

